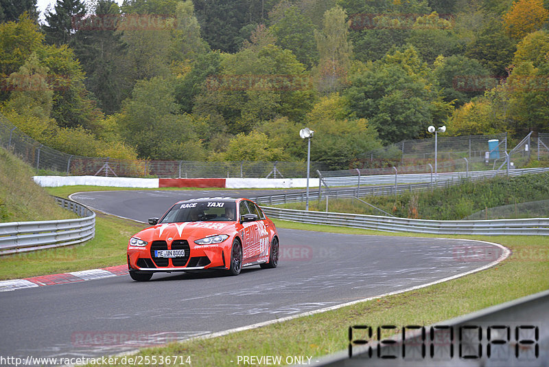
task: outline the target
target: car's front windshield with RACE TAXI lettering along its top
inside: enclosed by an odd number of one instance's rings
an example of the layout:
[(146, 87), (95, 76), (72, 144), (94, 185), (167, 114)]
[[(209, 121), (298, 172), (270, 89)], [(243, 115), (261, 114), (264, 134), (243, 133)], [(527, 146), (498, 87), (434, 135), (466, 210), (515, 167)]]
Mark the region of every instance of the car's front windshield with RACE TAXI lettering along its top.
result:
[(235, 220), (236, 205), (234, 201), (186, 201), (174, 205), (159, 223)]

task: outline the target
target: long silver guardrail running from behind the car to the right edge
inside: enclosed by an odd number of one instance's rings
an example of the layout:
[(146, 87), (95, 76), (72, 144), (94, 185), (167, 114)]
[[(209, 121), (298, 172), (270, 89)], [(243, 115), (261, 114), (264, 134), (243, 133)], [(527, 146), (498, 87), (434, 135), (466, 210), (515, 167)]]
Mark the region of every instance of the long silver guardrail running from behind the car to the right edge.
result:
[(500, 234), (549, 236), (549, 218), (494, 219), (490, 221), (430, 221), (365, 214), (312, 212), (261, 207), (267, 216), (283, 221), (337, 225), (364, 230), (429, 234)]

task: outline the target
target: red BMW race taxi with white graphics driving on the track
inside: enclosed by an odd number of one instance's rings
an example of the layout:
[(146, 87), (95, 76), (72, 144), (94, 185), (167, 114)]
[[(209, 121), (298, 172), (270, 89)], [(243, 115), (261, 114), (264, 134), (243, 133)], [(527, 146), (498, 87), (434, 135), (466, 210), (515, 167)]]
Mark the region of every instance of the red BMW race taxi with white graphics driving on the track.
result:
[(152, 227), (130, 238), (128, 271), (133, 280), (154, 272), (274, 268), (279, 236), (274, 223), (248, 199), (202, 198), (179, 201)]

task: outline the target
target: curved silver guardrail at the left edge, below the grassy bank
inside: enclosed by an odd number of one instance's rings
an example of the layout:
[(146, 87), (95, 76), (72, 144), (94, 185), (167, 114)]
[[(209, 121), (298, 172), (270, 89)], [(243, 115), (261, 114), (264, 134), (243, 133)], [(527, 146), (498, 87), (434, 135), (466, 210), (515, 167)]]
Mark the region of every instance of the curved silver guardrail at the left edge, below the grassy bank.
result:
[(95, 213), (69, 199), (56, 202), (82, 216), (78, 219), (0, 223), (0, 256), (75, 245), (95, 236)]

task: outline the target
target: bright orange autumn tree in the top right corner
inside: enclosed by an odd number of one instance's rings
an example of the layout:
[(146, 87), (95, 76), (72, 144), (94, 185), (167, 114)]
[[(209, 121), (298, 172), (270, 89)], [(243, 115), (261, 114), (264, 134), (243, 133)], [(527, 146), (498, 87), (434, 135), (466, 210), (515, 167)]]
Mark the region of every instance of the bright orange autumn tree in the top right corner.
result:
[(503, 22), (509, 36), (521, 39), (539, 30), (548, 18), (549, 11), (544, 8), (543, 0), (517, 0), (503, 15)]

